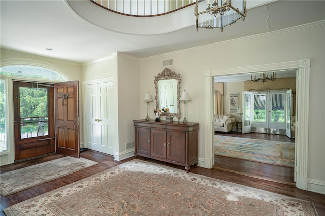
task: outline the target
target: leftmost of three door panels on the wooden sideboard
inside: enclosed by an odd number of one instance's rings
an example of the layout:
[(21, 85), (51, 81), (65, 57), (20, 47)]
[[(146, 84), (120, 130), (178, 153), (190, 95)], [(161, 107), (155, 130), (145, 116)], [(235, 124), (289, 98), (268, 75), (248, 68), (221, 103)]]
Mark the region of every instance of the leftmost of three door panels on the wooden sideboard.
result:
[(137, 127), (137, 153), (150, 155), (150, 129)]

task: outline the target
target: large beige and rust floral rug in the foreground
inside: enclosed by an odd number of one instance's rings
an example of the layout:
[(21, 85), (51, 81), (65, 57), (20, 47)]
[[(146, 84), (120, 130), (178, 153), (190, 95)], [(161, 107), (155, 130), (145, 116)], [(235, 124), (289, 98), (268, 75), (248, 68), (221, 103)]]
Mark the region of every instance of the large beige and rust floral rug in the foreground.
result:
[(312, 202), (132, 160), (4, 209), (9, 215), (317, 215)]

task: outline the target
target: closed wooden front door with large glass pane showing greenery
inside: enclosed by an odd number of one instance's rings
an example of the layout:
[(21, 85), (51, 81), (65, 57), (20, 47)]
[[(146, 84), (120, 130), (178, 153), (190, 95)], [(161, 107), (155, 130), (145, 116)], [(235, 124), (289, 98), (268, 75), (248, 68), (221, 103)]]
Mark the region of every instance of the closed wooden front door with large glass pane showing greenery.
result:
[(13, 81), (15, 161), (55, 153), (53, 85)]

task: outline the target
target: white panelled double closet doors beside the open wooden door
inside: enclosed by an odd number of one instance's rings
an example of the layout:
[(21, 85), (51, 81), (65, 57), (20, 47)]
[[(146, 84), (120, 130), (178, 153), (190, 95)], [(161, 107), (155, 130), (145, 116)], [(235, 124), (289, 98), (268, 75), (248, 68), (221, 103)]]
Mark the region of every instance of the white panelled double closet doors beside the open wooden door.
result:
[(113, 82), (84, 88), (87, 146), (114, 155)]

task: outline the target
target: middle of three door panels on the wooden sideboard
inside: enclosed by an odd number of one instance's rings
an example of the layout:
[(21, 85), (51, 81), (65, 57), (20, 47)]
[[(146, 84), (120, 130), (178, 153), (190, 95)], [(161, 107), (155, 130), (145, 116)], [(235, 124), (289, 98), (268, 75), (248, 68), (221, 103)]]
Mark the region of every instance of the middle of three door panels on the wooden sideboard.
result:
[(151, 156), (166, 159), (166, 131), (151, 129)]

